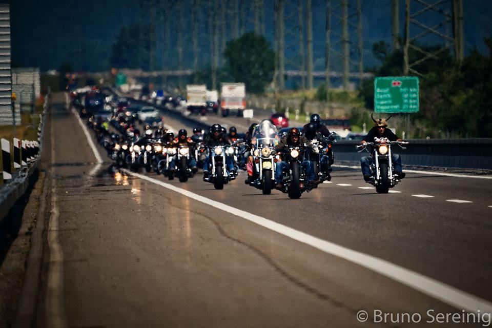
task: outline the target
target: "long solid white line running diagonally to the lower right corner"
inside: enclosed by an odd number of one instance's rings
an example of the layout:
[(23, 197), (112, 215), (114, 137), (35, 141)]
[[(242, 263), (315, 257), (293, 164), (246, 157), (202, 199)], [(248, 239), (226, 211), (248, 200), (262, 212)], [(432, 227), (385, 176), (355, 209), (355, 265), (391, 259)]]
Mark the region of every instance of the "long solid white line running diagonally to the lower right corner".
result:
[(122, 171), (124, 171), (127, 174), (138, 177), (140, 179), (144, 179), (149, 182), (155, 183), (156, 185), (167, 188), (181, 195), (195, 199), (204, 204), (210, 205), (221, 211), (228, 212), (235, 216), (254, 222), (261, 227), (270, 229), (272, 231), (275, 231), (279, 234), (282, 234), (299, 242), (308, 244), (327, 254), (331, 254), (340, 257), (342, 259), (345, 259), (347, 261), (353, 262), (355, 264), (361, 265), (364, 268), (370, 269), (383, 276), (398, 281), (417, 291), (420, 291), (421, 293), (424, 293), (428, 296), (441, 300), (444, 303), (453, 305), (458, 309), (465, 309), (473, 312), (476, 312), (477, 310), (480, 310), (482, 312), (492, 312), (492, 303), (484, 299), (481, 299), (479, 297), (476, 297), (474, 295), (460, 291), (459, 289), (447, 285), (443, 282), (440, 282), (436, 279), (429, 278), (420, 273), (399, 267), (396, 264), (377, 258), (375, 256), (357, 252), (345, 248), (343, 246), (340, 246), (336, 243), (311, 236), (309, 234), (292, 229), (290, 227), (286, 227), (283, 224), (274, 222), (272, 220), (266, 219), (264, 217), (255, 214), (245, 212), (243, 210), (236, 209), (227, 204), (215, 201), (207, 197), (200, 196), (198, 194), (192, 193), (191, 191), (178, 188), (174, 185), (170, 185), (169, 183), (150, 178), (146, 175), (133, 173), (125, 169)]

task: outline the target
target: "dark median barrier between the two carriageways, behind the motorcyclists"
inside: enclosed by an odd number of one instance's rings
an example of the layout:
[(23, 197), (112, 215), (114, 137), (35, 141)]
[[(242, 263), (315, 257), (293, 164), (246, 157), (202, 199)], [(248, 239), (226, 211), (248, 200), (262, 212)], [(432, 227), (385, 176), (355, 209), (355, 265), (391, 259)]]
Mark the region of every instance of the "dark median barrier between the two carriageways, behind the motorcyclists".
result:
[[(108, 88), (114, 95), (112, 89)], [(134, 101), (149, 105), (146, 101)], [(208, 129), (209, 125), (182, 114), (182, 111), (163, 106), (154, 106), (166, 115), (181, 121), (188, 121), (197, 128)], [(402, 158), (403, 165), (442, 167), (457, 169), (492, 170), (492, 138), (473, 139), (411, 139), (406, 150), (395, 147), (393, 150)], [(358, 153), (355, 146), (358, 140), (341, 140), (334, 145), (335, 161), (359, 162), (367, 152)]]

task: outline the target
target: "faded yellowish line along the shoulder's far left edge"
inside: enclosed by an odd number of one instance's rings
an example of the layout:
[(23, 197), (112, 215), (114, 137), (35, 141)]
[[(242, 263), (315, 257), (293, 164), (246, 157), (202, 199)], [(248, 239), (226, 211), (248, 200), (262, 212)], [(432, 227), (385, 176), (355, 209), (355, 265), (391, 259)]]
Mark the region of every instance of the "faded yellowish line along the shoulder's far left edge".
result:
[[(51, 121), (51, 163), (55, 163), (55, 141)], [(51, 215), (48, 230), (48, 245), (50, 248), (50, 263), (48, 269), (48, 291), (46, 302), (46, 314), (48, 326), (65, 327), (67, 320), (65, 316), (63, 297), (63, 250), (58, 242), (58, 217), (59, 211), (56, 197), (56, 181), (54, 179), (54, 167), (51, 168)]]

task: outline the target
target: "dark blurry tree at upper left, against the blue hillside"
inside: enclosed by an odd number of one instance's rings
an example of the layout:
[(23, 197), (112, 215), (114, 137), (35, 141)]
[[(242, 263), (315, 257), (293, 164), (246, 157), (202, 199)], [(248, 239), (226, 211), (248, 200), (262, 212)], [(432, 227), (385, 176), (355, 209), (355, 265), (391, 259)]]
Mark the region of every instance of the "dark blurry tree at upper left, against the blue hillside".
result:
[[(143, 38), (141, 37), (144, 36)], [(111, 47), (110, 65), (116, 68), (149, 70), (150, 40), (155, 39), (151, 25), (122, 26)]]

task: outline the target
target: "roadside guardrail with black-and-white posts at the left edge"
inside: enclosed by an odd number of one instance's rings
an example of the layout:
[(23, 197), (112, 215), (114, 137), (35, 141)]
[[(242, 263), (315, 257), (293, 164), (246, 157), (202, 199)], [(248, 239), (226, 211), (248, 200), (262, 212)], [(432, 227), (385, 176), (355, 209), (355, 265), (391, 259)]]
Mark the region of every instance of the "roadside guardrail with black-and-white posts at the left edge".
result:
[[(15, 210), (16, 204), (19, 204), (20, 200), (29, 191), (30, 186), (32, 186), (32, 183), (37, 179), (39, 154), (43, 149), (42, 140), (43, 140), (43, 133), (44, 133), (44, 125), (46, 120), (46, 111), (48, 108), (48, 98), (49, 98), (49, 93), (45, 97), (45, 102), (43, 104), (43, 112), (42, 114), (40, 114), (41, 119), (39, 121), (39, 126), (38, 126), (37, 141), (35, 141), (35, 144), (34, 142), (29, 141), (29, 144), (35, 146), (35, 148), (33, 147), (30, 150), (26, 149), (26, 151), (24, 152), (22, 150), (19, 150), (20, 151), (19, 155), (21, 160), (20, 168), (15, 174), (12, 175), (12, 178), (8, 179), (6, 183), (0, 188), (0, 209), (2, 209), (2, 211), (0, 211), (0, 231), (2, 232), (8, 230), (8, 226), (10, 222), (6, 222), (6, 221), (8, 221), (7, 218), (9, 217), (9, 214), (13, 210)], [(5, 141), (8, 142), (8, 140)], [(5, 143), (5, 141), (3, 143)], [(17, 142), (19, 141), (22, 145), (23, 144), (22, 140), (18, 140)], [(14, 156), (14, 159), (16, 159), (16, 157), (17, 156)], [(23, 162), (25, 163), (25, 165), (23, 165)], [(9, 166), (10, 169), (10, 156), (7, 165)], [(5, 166), (6, 164), (4, 163), (4, 171), (6, 169)], [(4, 176), (4, 179), (5, 178), (6, 176)]]

